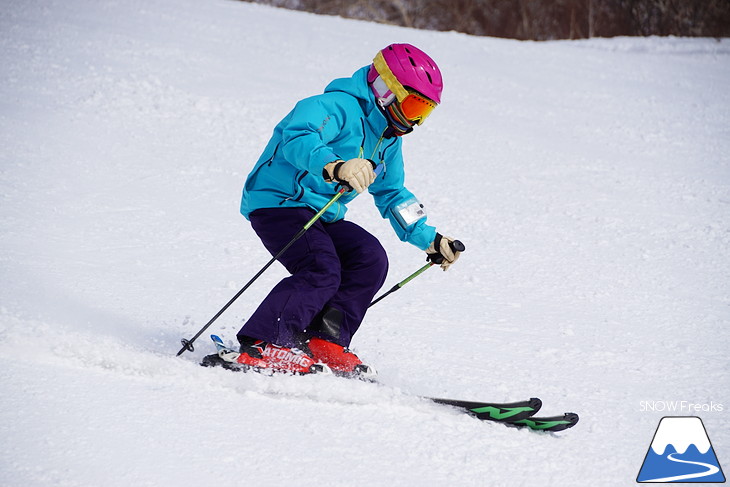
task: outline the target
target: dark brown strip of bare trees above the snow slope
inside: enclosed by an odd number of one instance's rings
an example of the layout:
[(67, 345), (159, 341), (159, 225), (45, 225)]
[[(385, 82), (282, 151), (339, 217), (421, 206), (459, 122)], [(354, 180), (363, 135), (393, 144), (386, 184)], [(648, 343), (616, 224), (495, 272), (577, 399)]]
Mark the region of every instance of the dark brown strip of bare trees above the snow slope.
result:
[(730, 36), (730, 0), (253, 0), (294, 10), (513, 39)]

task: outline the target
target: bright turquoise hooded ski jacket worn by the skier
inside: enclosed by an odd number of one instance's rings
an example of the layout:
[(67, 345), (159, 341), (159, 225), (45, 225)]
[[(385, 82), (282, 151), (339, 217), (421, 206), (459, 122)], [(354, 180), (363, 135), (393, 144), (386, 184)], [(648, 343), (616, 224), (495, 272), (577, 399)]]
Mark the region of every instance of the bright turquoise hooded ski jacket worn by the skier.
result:
[[(336, 183), (324, 180), (324, 166), (363, 157), (384, 165), (368, 191), (398, 238), (422, 250), (433, 242), (436, 229), (426, 223), (425, 213), (415, 221), (402, 217), (403, 208), (418, 205), (418, 200), (404, 186), (401, 137), (384, 137), (388, 123), (368, 86), (368, 69), (365, 66), (350, 78), (336, 79), (323, 94), (301, 100), (276, 126), (246, 179), (243, 216), (248, 219), (259, 208), (308, 207), (317, 212), (337, 192)], [(347, 203), (357, 195), (355, 191), (342, 195), (322, 220), (344, 218)]]

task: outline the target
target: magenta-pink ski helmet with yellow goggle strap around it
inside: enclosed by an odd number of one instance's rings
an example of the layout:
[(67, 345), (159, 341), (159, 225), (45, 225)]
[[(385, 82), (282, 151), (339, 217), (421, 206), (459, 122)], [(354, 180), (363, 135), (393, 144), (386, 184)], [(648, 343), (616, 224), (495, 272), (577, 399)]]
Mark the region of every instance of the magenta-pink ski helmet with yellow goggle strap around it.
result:
[(431, 57), (411, 44), (391, 44), (378, 52), (368, 74), (372, 83), (380, 76), (399, 102), (407, 95), (406, 89), (441, 103), (444, 84), (441, 71)]

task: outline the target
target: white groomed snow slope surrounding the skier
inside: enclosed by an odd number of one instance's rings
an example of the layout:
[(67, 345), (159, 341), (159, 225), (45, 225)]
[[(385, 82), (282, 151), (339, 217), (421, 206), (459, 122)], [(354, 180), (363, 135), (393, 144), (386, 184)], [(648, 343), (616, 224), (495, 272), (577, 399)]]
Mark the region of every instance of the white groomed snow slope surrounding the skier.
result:
[[(268, 259), (243, 180), (301, 97), (405, 41), (443, 106), (408, 187), (467, 245), (372, 309), (389, 387), (175, 358)], [(730, 44), (529, 43), (223, 0), (0, 8), (0, 485), (618, 486), (659, 418), (699, 414), (730, 464)], [(423, 263), (369, 196), (351, 219)], [(211, 331), (232, 340), (272, 267)], [(574, 410), (483, 424), (418, 394)]]

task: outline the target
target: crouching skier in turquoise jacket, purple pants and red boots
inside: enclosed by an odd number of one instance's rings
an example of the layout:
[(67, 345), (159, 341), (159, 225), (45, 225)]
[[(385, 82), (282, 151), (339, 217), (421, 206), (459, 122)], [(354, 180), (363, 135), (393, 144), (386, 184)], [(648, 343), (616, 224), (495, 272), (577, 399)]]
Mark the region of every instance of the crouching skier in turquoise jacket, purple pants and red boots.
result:
[[(241, 213), (276, 255), (345, 185), (350, 189), (279, 258), (291, 273), (237, 334), (239, 363), (306, 373), (324, 363), (342, 375), (374, 371), (347, 347), (385, 281), (380, 242), (344, 220), (346, 204), (368, 190), (395, 233), (446, 270), (459, 257), (426, 224), (404, 187), (401, 136), (441, 101), (436, 63), (410, 44), (392, 44), (350, 78), (305, 98), (276, 126), (246, 179)], [(381, 167), (379, 167), (381, 166)]]

